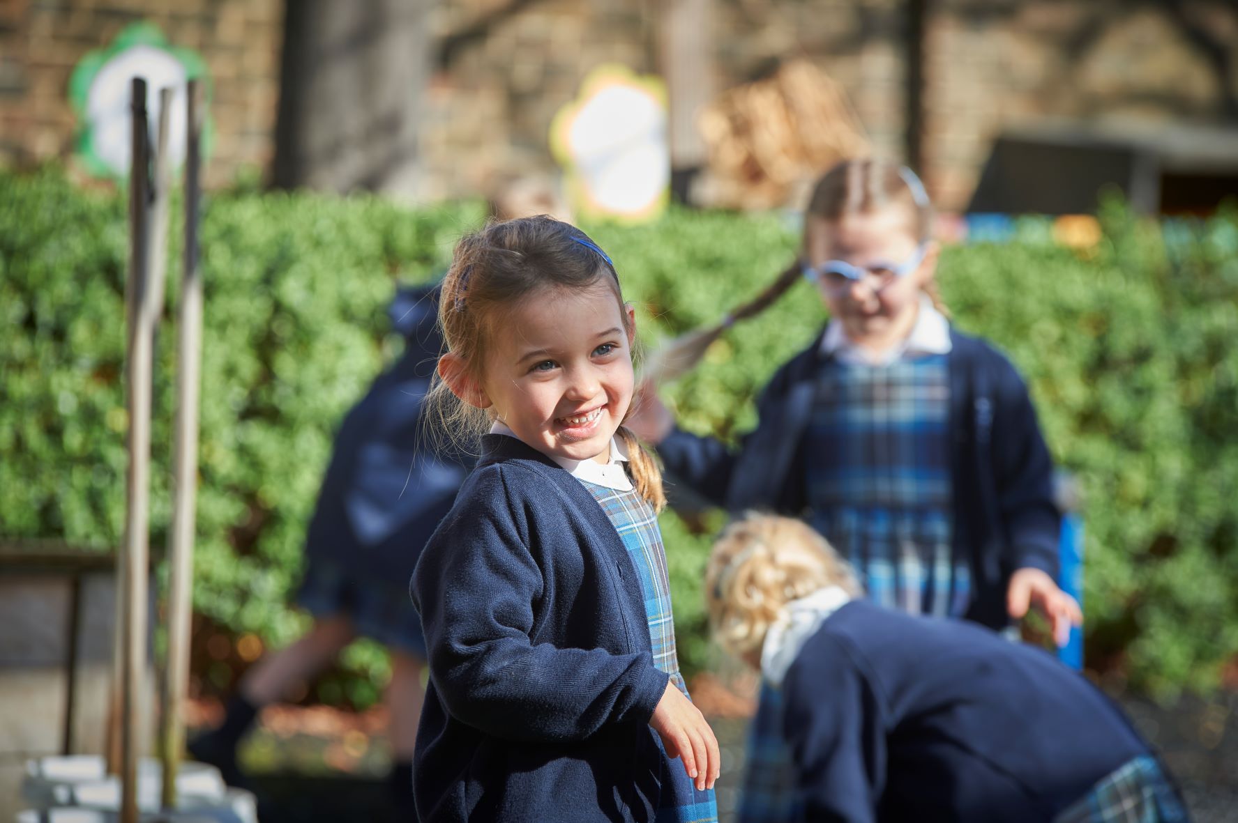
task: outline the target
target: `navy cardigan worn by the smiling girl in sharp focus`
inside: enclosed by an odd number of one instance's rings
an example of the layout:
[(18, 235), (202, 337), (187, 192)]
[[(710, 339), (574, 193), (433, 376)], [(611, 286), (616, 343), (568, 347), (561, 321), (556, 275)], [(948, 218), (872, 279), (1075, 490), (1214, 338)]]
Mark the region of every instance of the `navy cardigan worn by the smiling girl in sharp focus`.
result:
[(423, 823), (654, 818), (667, 674), (636, 568), (576, 478), (488, 434), (411, 592), (430, 657)]

